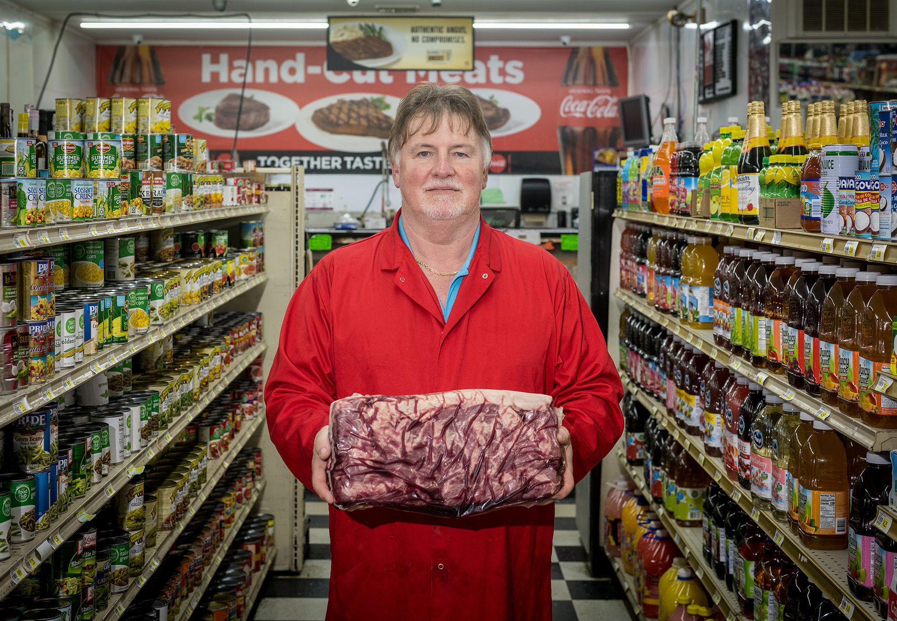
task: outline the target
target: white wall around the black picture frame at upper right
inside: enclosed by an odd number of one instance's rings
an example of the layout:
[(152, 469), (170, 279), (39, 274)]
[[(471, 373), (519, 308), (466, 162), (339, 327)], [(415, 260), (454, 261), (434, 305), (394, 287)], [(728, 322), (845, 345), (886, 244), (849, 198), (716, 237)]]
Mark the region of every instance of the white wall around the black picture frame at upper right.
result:
[[(686, 2), (679, 5), (684, 13), (693, 13), (697, 2)], [(736, 94), (728, 99), (701, 106), (698, 116), (708, 117), (708, 131), (713, 134), (724, 125), (729, 116), (737, 116), (744, 127), (747, 116), (747, 0), (705, 0), (703, 2), (705, 22), (727, 22), (737, 20), (742, 24), (738, 31), (736, 48)], [(663, 102), (669, 103), (672, 116), (681, 117), (682, 132), (679, 140), (692, 140), (694, 136), (694, 88), (697, 79), (697, 58), (695, 57), (695, 37), (697, 29), (683, 28), (679, 30), (680, 75), (682, 78), (682, 110), (675, 109), (675, 32), (673, 26), (666, 21), (666, 16), (640, 32), (630, 45), (631, 80), (630, 94), (645, 93), (650, 98), (651, 116), (654, 121), (652, 134), (659, 139), (662, 131), (662, 119), (658, 118)], [(773, 30), (775, 30), (773, 28)], [(667, 85), (669, 85), (668, 96)], [(772, 123), (778, 123), (778, 115), (767, 111)]]

